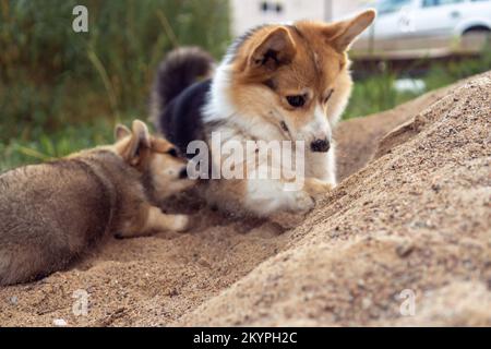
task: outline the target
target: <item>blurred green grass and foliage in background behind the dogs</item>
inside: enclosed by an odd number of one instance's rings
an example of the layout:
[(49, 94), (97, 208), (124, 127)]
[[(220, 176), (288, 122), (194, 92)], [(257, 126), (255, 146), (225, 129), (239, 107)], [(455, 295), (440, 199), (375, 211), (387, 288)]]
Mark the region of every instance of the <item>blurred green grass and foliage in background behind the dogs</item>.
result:
[[(76, 4), (89, 33), (72, 29)], [(228, 0), (0, 0), (0, 171), (110, 143), (116, 122), (146, 119), (165, 52), (199, 45), (219, 59), (229, 24)], [(488, 52), (433, 64), (422, 79), (429, 91), (490, 69)], [(393, 88), (404, 74), (357, 81), (345, 118), (416, 97)]]

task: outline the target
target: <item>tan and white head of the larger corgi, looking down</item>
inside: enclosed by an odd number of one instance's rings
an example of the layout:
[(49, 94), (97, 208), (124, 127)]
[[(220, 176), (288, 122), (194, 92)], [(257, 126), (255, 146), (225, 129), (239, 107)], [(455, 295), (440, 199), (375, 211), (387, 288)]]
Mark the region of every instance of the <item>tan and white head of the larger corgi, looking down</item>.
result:
[(369, 10), (332, 24), (303, 21), (253, 31), (229, 58), (231, 103), (241, 115), (275, 123), (285, 137), (325, 152), (321, 141), (331, 140), (351, 92), (346, 51), (374, 17)]

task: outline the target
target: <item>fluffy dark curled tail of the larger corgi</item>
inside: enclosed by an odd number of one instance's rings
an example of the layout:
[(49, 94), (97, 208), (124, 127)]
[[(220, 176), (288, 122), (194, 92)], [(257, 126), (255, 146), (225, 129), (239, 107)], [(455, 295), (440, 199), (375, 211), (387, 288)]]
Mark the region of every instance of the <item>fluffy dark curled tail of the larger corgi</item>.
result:
[(151, 97), (151, 117), (156, 122), (167, 105), (200, 77), (208, 77), (213, 57), (197, 47), (169, 52), (158, 69)]

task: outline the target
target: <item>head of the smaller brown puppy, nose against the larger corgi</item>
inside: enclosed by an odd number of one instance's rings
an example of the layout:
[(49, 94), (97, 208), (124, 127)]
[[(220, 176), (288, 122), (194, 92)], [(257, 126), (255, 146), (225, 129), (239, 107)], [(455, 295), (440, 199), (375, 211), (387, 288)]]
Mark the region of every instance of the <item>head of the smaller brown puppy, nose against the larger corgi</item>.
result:
[(188, 179), (188, 161), (167, 140), (152, 136), (144, 122), (133, 121), (132, 130), (117, 125), (115, 137), (113, 152), (144, 173), (145, 185), (154, 198), (163, 200), (194, 184)]

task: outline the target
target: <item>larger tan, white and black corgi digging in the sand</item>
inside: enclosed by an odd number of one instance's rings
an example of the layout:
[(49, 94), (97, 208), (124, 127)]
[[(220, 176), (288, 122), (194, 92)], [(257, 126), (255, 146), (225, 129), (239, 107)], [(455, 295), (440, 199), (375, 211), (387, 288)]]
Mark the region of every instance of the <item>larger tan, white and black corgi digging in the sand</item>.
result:
[[(190, 155), (188, 146), (201, 140), (209, 145), (212, 168), (223, 166), (213, 134), (220, 135), (221, 145), (304, 144), (301, 190), (285, 190), (290, 179), (284, 176), (217, 179), (206, 185), (211, 203), (259, 216), (301, 213), (336, 185), (332, 133), (351, 94), (347, 50), (374, 19), (375, 11), (368, 10), (331, 24), (263, 25), (238, 38), (215, 71), (209, 55), (197, 48), (168, 55), (156, 79), (152, 113), (182, 154)], [(252, 163), (254, 173), (272, 167), (270, 158)]]

